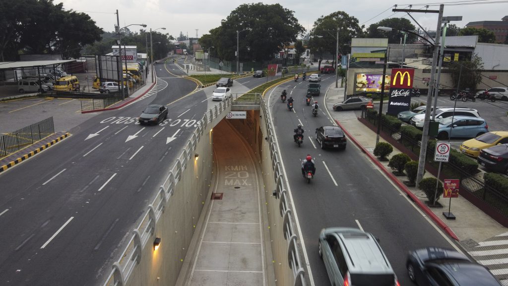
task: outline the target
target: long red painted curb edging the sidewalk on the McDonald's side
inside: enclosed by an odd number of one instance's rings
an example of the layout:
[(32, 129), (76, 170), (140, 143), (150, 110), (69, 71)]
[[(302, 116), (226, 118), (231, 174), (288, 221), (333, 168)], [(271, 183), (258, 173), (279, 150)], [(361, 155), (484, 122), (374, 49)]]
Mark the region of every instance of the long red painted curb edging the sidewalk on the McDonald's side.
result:
[(420, 201), (420, 199), (414, 194), (412, 193), (407, 187), (406, 185), (402, 184), (396, 177), (395, 175), (393, 175), (390, 171), (388, 171), (385, 166), (380, 163), (378, 160), (376, 160), (376, 158), (374, 156), (372, 156), (372, 154), (370, 154), (369, 151), (367, 151), (356, 139), (355, 137), (351, 136), (351, 134), (349, 132), (347, 132), (347, 130), (344, 129), (344, 127), (342, 127), (342, 125), (340, 125), (340, 123), (338, 122), (338, 120), (335, 120), (335, 122), (337, 123), (337, 125), (342, 128), (342, 130), (344, 131), (344, 133), (346, 133), (347, 137), (349, 139), (351, 139), (356, 146), (358, 146), (360, 148), (360, 150), (362, 150), (363, 153), (367, 154), (367, 156), (369, 156), (370, 160), (372, 160), (372, 162), (374, 162), (379, 168), (381, 168), (383, 170), (383, 172), (395, 183), (397, 184), (397, 186), (399, 188), (401, 188), (402, 190), (404, 190), (404, 192), (406, 192), (406, 194), (410, 197), (411, 201), (415, 202), (415, 204), (418, 205), (418, 207), (420, 207), (420, 209), (422, 209), (430, 218), (432, 218), (432, 220), (439, 226), (442, 228), (442, 230), (444, 232), (446, 232), (450, 237), (452, 237), (453, 239), (459, 241), (459, 238), (455, 235), (455, 233), (452, 231), (452, 229), (446, 224), (444, 223), (439, 217), (437, 217), (436, 214), (434, 214), (424, 203), (422, 203), (422, 201)]

